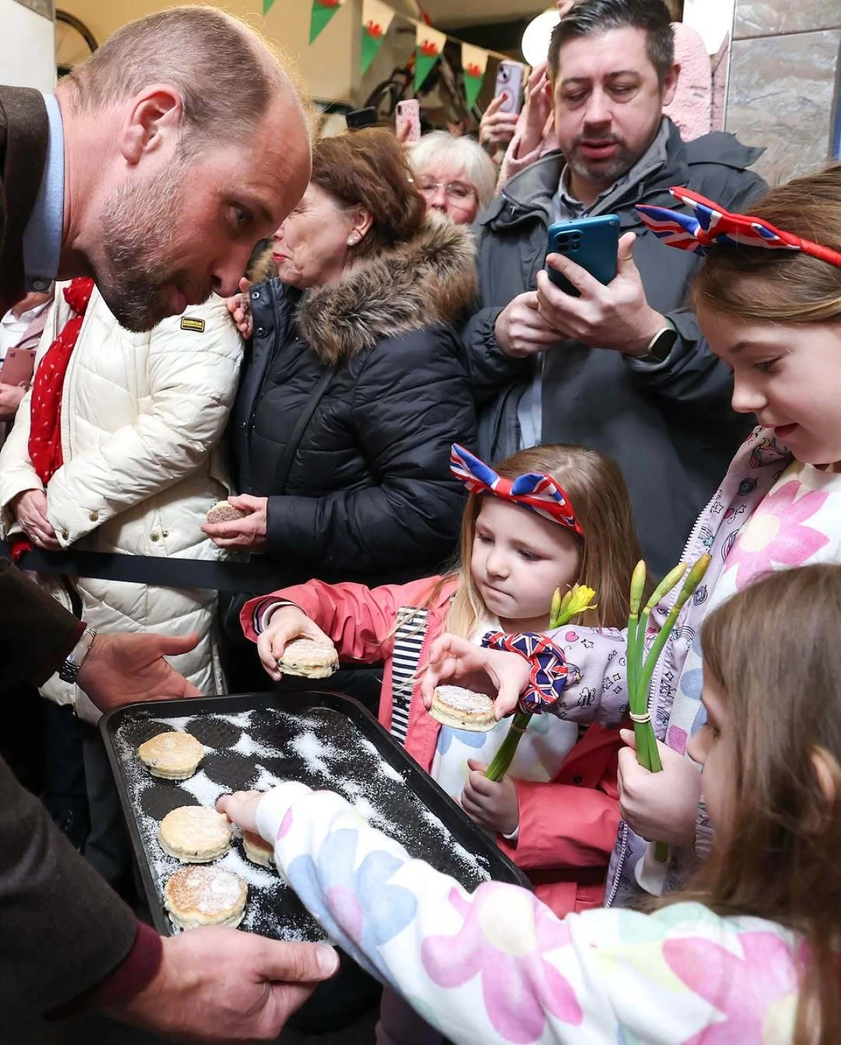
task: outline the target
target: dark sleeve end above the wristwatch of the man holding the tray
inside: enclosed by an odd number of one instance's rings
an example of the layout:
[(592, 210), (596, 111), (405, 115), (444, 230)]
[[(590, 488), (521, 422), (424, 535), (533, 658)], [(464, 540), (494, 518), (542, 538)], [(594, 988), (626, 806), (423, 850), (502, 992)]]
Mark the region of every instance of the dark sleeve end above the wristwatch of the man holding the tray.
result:
[(24, 679), (46, 682), (84, 629), (8, 559), (0, 559), (0, 693)]

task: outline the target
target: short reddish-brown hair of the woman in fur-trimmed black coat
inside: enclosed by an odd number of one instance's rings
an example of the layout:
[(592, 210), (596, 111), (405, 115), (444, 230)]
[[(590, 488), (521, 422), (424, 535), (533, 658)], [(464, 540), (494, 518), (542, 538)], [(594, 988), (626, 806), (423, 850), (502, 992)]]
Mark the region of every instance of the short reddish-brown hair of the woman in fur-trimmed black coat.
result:
[(368, 127), (312, 147), (311, 181), (344, 207), (365, 207), (373, 224), (353, 249), (370, 257), (412, 239), (426, 214), (405, 150), (391, 131)]

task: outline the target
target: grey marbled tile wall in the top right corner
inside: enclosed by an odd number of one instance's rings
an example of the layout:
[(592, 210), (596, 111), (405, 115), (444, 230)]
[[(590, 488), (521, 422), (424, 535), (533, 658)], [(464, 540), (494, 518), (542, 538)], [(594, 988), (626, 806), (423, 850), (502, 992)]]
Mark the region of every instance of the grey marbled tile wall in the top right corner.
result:
[(726, 129), (767, 146), (768, 181), (826, 160), (840, 48), (841, 0), (737, 0)]

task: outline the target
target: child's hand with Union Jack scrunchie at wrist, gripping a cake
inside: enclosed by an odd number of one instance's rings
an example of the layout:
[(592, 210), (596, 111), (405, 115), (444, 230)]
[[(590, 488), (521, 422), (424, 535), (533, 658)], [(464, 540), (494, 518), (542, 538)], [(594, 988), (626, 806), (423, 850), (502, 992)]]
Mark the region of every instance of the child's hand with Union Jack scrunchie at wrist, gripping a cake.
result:
[[(273, 619), (274, 620), (274, 619)], [(493, 699), (497, 721), (517, 710), (529, 684), (529, 661), (518, 653), (489, 650), (458, 635), (445, 634), (433, 643), (429, 664), (421, 679), (421, 695), (428, 711), (437, 686), (452, 683), (487, 693)]]

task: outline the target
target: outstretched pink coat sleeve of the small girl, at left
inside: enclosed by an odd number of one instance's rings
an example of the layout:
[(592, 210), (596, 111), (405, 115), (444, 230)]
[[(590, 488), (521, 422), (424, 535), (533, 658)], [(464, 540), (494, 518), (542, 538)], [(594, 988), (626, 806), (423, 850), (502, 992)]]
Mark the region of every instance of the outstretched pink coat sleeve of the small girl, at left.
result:
[[(436, 580), (430, 579), (430, 590)], [(343, 660), (376, 664), (391, 656), (397, 610), (417, 595), (417, 582), (369, 588), (365, 584), (313, 580), (249, 600), (239, 621), (246, 637), (257, 642), (261, 630), (258, 620), (265, 608), (278, 602), (294, 603), (330, 636)]]

